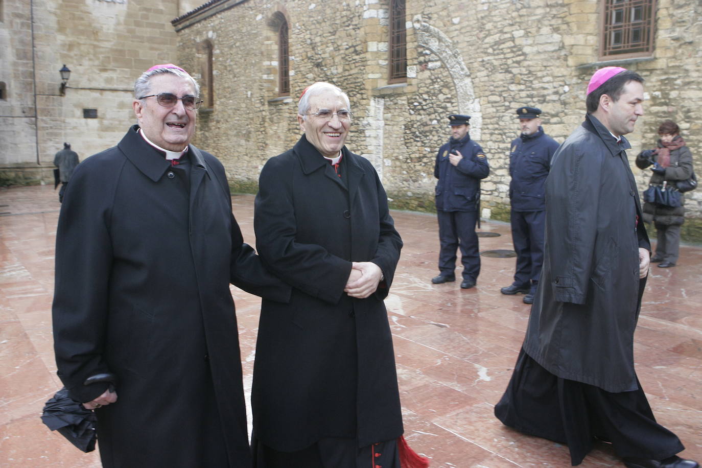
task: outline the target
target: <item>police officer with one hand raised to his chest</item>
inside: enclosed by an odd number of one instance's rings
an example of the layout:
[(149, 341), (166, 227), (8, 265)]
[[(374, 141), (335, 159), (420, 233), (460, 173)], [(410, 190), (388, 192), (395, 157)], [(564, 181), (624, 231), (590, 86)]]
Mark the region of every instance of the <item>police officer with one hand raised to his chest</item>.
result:
[(480, 179), (490, 172), (485, 154), (470, 139), (469, 115), (449, 115), (451, 139), (439, 148), (434, 176), (439, 179), (436, 187), (436, 206), (439, 218), (439, 276), (432, 283), (456, 281), (456, 248), (461, 246), (463, 281), (461, 288), (475, 286), (480, 272), (478, 236), (475, 234)]

